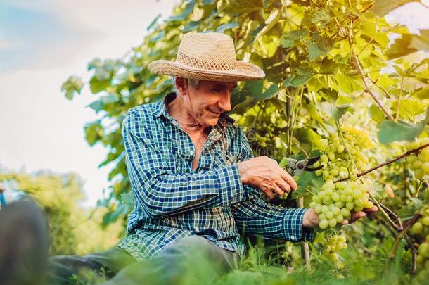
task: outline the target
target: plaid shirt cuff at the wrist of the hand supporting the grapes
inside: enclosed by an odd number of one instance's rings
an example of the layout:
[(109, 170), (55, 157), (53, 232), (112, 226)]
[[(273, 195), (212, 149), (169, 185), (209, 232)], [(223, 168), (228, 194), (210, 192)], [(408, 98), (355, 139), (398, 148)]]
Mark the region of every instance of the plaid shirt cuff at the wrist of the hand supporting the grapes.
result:
[(283, 214), (283, 233), (287, 241), (313, 241), (314, 230), (302, 227), (306, 208), (290, 208)]

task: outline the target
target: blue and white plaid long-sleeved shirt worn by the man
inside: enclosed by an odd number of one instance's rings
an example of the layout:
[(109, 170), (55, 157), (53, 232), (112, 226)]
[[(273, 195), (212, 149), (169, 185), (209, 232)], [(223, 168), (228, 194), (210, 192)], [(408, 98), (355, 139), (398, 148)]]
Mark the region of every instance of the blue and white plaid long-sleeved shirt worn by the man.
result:
[(260, 198), (260, 189), (241, 183), (236, 163), (253, 154), (243, 130), (229, 116), (212, 127), (192, 170), (193, 142), (166, 108), (175, 96), (132, 108), (124, 117), (134, 210), (119, 246), (142, 260), (195, 234), (241, 256), (243, 230), (272, 239), (312, 240), (312, 230), (302, 227), (307, 209), (269, 205)]

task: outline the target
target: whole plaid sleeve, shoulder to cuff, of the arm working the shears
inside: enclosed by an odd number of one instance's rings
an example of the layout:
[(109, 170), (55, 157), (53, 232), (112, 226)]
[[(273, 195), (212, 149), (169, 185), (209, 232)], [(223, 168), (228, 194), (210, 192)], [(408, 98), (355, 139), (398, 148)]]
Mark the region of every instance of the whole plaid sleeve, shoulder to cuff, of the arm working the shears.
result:
[(122, 135), (132, 191), (148, 217), (164, 218), (243, 201), (243, 184), (236, 164), (174, 174), (141, 119), (136, 110), (129, 110), (122, 123)]

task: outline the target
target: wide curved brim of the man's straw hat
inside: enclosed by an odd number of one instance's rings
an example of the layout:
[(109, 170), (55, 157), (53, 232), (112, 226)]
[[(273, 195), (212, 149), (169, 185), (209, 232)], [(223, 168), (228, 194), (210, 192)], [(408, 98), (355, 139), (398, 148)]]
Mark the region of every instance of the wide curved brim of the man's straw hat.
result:
[(204, 70), (182, 65), (176, 61), (165, 60), (153, 61), (148, 65), (148, 68), (158, 75), (221, 82), (260, 80), (265, 77), (264, 70), (257, 65), (244, 61), (236, 61), (236, 68), (233, 70)]

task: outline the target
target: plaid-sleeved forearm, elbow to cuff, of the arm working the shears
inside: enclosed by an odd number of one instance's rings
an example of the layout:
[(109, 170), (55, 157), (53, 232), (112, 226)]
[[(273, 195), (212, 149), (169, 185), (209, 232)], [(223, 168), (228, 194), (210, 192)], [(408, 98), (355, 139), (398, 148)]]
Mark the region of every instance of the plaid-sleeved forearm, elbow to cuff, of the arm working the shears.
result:
[(129, 173), (136, 200), (153, 218), (243, 200), (243, 186), (236, 165), (179, 175), (131, 166)]

